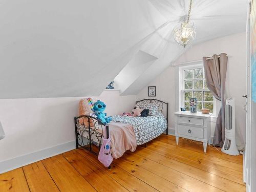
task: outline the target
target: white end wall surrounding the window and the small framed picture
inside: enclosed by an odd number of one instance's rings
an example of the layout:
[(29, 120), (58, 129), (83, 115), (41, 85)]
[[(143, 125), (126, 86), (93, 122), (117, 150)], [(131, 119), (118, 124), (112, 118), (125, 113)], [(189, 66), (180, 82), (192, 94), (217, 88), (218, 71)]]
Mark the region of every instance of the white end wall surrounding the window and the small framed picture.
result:
[[(212, 39), (191, 47), (176, 60), (176, 63), (180, 63), (199, 60), (202, 59), (203, 56), (212, 56), (213, 54), (227, 53), (229, 55), (226, 77), (226, 97), (234, 97), (236, 99), (237, 144), (240, 148), (243, 147), (245, 138), (245, 111), (243, 110), (245, 99), (242, 98), (242, 95), (246, 93), (245, 42), (245, 33), (237, 33)], [(173, 128), (173, 112), (176, 111), (175, 67), (168, 67), (155, 80), (148, 84), (148, 86), (156, 86), (156, 98), (169, 102), (169, 127)], [(137, 99), (146, 96), (147, 87), (137, 95)], [(212, 130), (212, 133), (213, 132), (214, 130)]]

